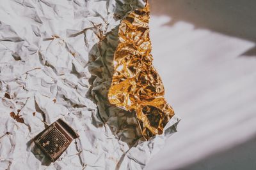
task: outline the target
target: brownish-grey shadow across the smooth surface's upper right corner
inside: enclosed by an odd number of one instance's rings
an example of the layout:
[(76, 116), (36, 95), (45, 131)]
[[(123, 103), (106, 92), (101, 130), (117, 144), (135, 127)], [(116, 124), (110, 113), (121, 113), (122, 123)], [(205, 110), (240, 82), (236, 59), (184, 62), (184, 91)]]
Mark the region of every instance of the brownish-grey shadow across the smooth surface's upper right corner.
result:
[[(248, 0), (149, 0), (152, 15), (168, 15), (172, 20), (189, 22), (228, 36), (256, 43), (256, 1)], [(256, 46), (243, 53), (256, 57)]]

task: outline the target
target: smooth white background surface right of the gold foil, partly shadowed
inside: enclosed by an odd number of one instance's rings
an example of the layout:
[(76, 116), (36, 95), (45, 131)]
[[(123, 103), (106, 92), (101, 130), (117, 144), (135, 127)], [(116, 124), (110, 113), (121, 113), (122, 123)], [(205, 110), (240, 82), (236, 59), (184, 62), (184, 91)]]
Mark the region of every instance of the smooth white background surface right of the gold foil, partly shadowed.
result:
[(256, 169), (255, 3), (150, 1), (154, 66), (182, 120), (145, 169)]

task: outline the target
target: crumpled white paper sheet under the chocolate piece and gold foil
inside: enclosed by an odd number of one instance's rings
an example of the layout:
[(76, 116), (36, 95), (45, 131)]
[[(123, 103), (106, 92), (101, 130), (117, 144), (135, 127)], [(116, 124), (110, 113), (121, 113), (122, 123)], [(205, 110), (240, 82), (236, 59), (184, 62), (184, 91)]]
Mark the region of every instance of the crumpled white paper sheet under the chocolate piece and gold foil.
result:
[[(164, 134), (143, 141), (129, 127), (137, 124), (132, 114), (106, 108), (101, 96), (111, 78), (120, 20), (144, 4), (0, 1), (0, 169), (142, 169), (164, 145), (179, 118), (170, 120)], [(10, 117), (12, 111), (24, 123)], [(32, 139), (58, 118), (80, 137), (60, 159), (45, 164)]]

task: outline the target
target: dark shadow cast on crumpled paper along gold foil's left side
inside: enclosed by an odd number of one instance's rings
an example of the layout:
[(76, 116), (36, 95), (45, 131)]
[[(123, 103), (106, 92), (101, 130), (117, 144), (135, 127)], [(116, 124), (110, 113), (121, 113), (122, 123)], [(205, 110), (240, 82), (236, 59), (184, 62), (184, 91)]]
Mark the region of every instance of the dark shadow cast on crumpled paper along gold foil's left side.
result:
[[(116, 20), (124, 18), (127, 13), (135, 10), (135, 8), (144, 7), (144, 4), (140, 4), (138, 1), (132, 1), (131, 3), (128, 1), (125, 1), (125, 3), (116, 1)], [(100, 41), (96, 43), (89, 52), (87, 66), (92, 76), (89, 80), (91, 87), (86, 96), (97, 104), (97, 117), (102, 120), (102, 125), (108, 124), (116, 138), (131, 147), (136, 145), (139, 140), (145, 140), (141, 135), (136, 114), (117, 108), (113, 104), (110, 104), (108, 100), (108, 92), (114, 72), (114, 53), (119, 43), (118, 29), (119, 26), (116, 26), (104, 36), (104, 34), (99, 31), (99, 28), (93, 28), (93, 32), (97, 34)]]

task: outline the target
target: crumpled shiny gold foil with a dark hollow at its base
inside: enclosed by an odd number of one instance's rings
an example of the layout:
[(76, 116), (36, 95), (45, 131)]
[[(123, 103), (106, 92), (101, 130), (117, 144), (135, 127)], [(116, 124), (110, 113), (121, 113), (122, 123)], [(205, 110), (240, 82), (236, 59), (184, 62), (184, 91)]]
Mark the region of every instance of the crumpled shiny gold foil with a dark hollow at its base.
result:
[(152, 66), (149, 17), (147, 2), (145, 8), (131, 12), (122, 20), (113, 62), (115, 71), (108, 93), (111, 104), (136, 112), (145, 139), (162, 134), (174, 115), (164, 99), (161, 78)]

